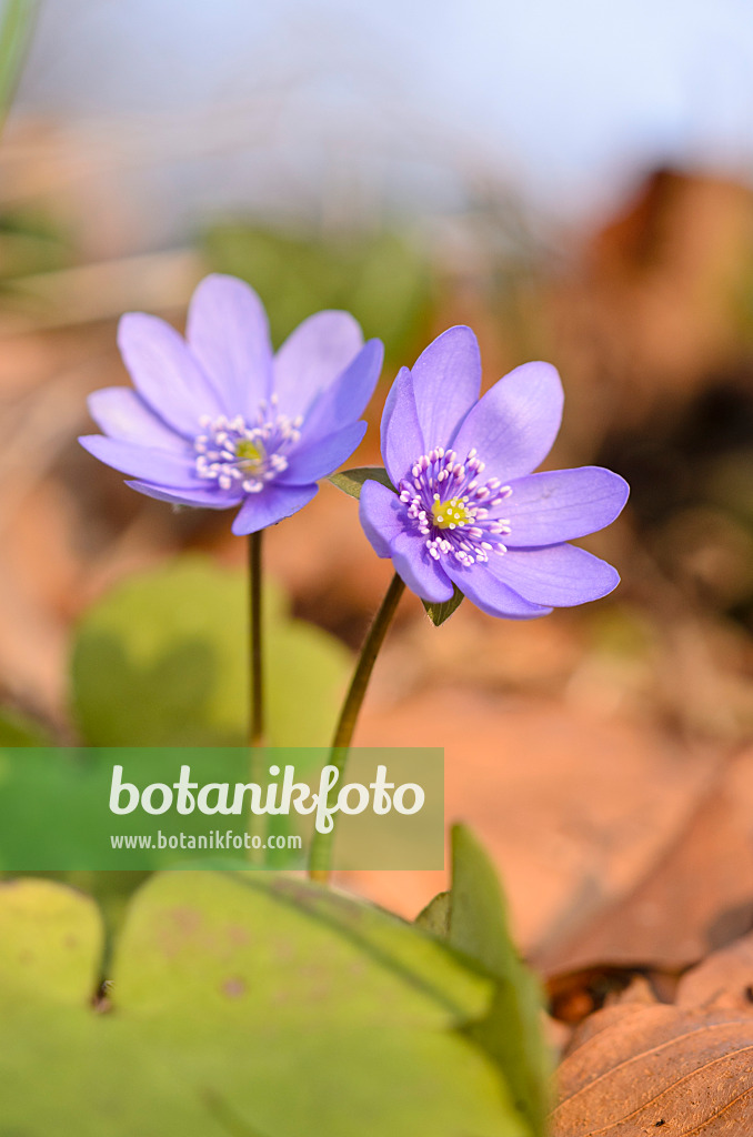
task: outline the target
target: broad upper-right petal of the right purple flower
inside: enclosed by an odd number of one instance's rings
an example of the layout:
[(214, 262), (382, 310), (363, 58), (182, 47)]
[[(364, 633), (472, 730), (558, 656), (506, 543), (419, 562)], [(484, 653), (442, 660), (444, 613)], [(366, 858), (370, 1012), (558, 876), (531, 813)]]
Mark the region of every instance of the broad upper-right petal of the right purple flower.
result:
[(462, 460), (475, 447), (487, 479), (508, 482), (530, 474), (557, 437), (563, 400), (556, 370), (548, 363), (526, 363), (479, 399), (461, 424), (453, 449)]

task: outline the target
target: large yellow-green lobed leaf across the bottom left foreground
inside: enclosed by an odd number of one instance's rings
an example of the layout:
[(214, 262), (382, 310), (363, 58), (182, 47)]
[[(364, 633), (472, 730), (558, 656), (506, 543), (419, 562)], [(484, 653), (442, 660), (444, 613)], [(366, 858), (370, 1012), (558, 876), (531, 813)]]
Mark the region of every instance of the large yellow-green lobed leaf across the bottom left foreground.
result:
[(155, 877), (101, 1013), (86, 1005), (91, 906), (14, 887), (26, 901), (8, 912), (0, 889), (3, 1134), (529, 1137), (458, 1030), (493, 984), (384, 912), (300, 880)]

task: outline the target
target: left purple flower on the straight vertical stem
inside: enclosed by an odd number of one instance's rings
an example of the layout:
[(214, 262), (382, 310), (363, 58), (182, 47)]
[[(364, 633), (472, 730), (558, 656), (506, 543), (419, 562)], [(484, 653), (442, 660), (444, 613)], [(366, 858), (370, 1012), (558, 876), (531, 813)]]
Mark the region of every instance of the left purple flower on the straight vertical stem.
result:
[(220, 275), (193, 293), (185, 339), (156, 316), (131, 313), (118, 346), (135, 390), (90, 397), (105, 434), (82, 446), (149, 497), (240, 506), (234, 533), (303, 508), (316, 482), (353, 454), (382, 363), (381, 342), (364, 346), (346, 312), (309, 316), (273, 356), (256, 292)]

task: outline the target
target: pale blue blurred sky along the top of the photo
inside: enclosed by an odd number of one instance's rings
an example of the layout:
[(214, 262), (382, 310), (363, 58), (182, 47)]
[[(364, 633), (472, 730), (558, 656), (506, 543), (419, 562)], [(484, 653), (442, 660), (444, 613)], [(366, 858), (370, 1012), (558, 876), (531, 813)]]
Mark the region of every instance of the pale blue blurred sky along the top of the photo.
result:
[(284, 175), (291, 199), (326, 192), (351, 160), (409, 208), (450, 208), (470, 171), (579, 216), (665, 160), (750, 176), (753, 6), (43, 0), (25, 110), (154, 119), (197, 200), (209, 153), (225, 194), (262, 204)]

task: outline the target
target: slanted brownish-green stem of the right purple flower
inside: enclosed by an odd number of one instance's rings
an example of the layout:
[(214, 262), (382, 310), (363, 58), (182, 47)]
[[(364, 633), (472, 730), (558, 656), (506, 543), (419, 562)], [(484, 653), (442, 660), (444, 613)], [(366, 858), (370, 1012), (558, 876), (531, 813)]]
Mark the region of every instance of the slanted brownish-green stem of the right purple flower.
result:
[[(369, 634), (366, 636), (364, 646), (361, 649), (358, 663), (356, 664), (356, 670), (353, 674), (350, 687), (348, 689), (348, 694), (346, 695), (345, 703), (342, 704), (342, 711), (340, 712), (340, 717), (334, 730), (334, 737), (332, 738), (330, 765), (337, 766), (340, 779), (345, 773), (345, 766), (348, 761), (348, 747), (350, 746), (350, 740), (353, 739), (353, 732), (356, 729), (358, 713), (361, 712), (366, 688), (369, 687), (371, 673), (374, 670), (376, 656), (379, 655), (380, 648), (384, 642), (387, 630), (392, 622), (392, 616), (397, 611), (397, 606), (404, 591), (405, 584), (396, 573), (392, 576), (390, 587), (387, 589), (381, 607), (374, 616), (374, 622), (369, 629)], [(308, 875), (312, 880), (326, 882), (330, 878), (334, 832), (336, 830), (332, 829), (329, 833), (314, 833), (308, 862)]]

